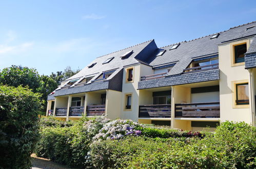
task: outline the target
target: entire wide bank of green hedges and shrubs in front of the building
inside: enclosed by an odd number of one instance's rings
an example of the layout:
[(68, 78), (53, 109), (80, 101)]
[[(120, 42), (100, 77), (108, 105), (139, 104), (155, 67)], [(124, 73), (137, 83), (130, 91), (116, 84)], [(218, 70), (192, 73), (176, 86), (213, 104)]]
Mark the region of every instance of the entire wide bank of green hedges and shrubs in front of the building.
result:
[[(126, 126), (120, 122), (124, 120), (83, 117), (67, 127), (52, 117), (41, 119), (44, 127), (36, 154), (78, 168), (253, 168), (256, 164), (256, 131), (244, 122), (223, 122), (215, 133), (204, 134), (142, 125), (138, 126), (141, 136), (115, 139)], [(103, 139), (103, 131), (113, 139)]]

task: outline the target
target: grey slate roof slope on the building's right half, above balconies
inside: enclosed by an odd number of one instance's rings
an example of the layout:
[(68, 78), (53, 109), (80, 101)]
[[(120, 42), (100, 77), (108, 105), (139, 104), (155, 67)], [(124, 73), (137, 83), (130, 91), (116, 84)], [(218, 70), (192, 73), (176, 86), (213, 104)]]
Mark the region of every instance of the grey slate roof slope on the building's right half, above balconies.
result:
[[(247, 30), (247, 28), (252, 26), (255, 27)], [(157, 57), (155, 57), (157, 53), (155, 52), (154, 55), (147, 60), (147, 62), (150, 66), (162, 65), (166, 64), (167, 62), (176, 62), (175, 66), (169, 72), (169, 75), (180, 74), (183, 72), (183, 69), (187, 68), (194, 58), (218, 54), (219, 44), (223, 44), (227, 41), (232, 41), (238, 38), (255, 35), (256, 22), (240, 25), (230, 28), (227, 31), (219, 32), (220, 35), (218, 38), (210, 39), (214, 34), (189, 41), (182, 41), (177, 49), (170, 50), (175, 44), (160, 48), (166, 50), (166, 52), (162, 56)]]

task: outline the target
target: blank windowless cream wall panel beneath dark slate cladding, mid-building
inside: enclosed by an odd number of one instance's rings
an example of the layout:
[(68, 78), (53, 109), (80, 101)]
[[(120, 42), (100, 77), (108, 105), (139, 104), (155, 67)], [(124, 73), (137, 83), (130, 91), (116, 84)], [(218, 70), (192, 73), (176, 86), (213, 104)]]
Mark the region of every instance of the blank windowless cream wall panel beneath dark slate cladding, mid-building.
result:
[(109, 119), (120, 118), (120, 111), (123, 108), (122, 92), (107, 90), (106, 114)]

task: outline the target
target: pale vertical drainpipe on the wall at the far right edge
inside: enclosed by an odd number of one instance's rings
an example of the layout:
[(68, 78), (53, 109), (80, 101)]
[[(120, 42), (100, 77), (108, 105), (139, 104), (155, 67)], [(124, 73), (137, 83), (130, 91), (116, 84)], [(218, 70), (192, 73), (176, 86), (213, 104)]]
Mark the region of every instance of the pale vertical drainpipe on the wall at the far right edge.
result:
[(251, 125), (255, 126), (255, 119), (254, 119), (254, 114), (255, 114), (255, 99), (254, 99), (254, 78), (253, 78), (253, 72), (251, 69), (248, 69), (249, 71), (249, 103), (250, 103), (250, 121)]

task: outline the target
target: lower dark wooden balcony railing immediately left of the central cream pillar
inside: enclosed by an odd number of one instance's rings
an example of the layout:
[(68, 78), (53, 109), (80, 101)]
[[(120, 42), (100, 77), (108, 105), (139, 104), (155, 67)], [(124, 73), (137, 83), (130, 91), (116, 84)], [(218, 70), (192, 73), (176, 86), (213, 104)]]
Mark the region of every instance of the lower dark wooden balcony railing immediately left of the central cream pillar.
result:
[(171, 118), (171, 104), (140, 105), (139, 117)]

